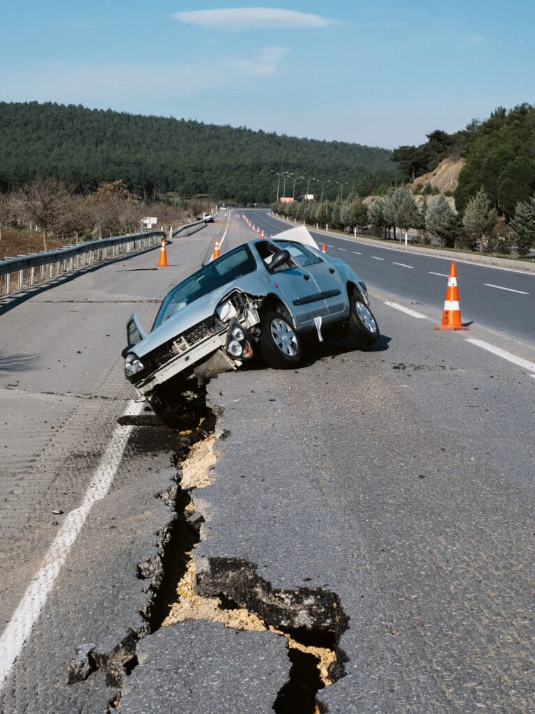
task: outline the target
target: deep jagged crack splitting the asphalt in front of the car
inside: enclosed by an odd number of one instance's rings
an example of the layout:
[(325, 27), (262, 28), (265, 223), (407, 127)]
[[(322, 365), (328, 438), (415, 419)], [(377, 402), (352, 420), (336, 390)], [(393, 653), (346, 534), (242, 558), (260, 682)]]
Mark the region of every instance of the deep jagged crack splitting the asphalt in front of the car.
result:
[[(215, 465), (215, 419), (210, 413), (181, 433), (183, 447), (173, 455), (175, 483), (157, 494), (172, 517), (159, 534), (155, 555), (138, 563), (138, 577), (146, 580), (148, 594), (142, 612), (145, 625), (129, 630), (108, 652), (96, 651), (93, 643), (79, 645), (69, 664), (71, 684), (101, 670), (110, 688), (108, 712), (118, 707), (128, 710), (131, 684), (139, 669), (147, 666), (146, 656), (143, 661), (139, 657), (141, 641), (162, 627), (177, 628), (180, 623), (221, 623), (230, 630), (281, 638), (288, 665), (272, 702), (277, 714), (319, 713), (323, 709), (316, 701), (317, 692), (345, 675), (346, 657), (339, 643), (348, 618), (336, 593), (322, 588), (272, 588), (254, 563), (240, 558), (203, 559), (203, 568), (196, 572), (193, 555), (205, 520), (198, 496), (210, 486), (210, 469)], [(150, 420), (137, 424), (150, 425)]]

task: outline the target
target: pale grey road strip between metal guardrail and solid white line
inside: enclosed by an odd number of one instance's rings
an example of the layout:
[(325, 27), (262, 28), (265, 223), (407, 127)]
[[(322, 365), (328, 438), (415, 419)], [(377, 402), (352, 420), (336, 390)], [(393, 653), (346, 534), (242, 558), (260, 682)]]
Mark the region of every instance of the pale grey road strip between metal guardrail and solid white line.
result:
[[(131, 401), (121, 358), (126, 320), (137, 311), (150, 328), (165, 293), (200, 266), (216, 234), (206, 226), (175, 239), (168, 268), (156, 268), (156, 248), (1, 299), (0, 623), (9, 623), (83, 503)], [(32, 616), (26, 610), (24, 621)]]

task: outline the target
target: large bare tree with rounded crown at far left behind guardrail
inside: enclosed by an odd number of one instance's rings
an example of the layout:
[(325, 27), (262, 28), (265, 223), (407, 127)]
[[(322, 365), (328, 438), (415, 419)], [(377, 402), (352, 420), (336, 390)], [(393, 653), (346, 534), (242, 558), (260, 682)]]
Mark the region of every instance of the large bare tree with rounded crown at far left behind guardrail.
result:
[(70, 193), (57, 178), (34, 178), (14, 192), (14, 208), (20, 218), (36, 223), (43, 231), (43, 247), (46, 233), (56, 231), (65, 216)]

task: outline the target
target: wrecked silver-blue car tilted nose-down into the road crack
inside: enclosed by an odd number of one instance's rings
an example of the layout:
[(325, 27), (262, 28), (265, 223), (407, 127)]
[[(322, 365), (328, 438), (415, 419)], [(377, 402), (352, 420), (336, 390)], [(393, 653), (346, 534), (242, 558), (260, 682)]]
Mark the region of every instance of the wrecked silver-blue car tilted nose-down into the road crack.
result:
[(223, 253), (163, 300), (150, 333), (126, 326), (125, 373), (168, 424), (181, 426), (199, 387), (259, 355), (296, 366), (302, 337), (342, 326), (367, 348), (379, 338), (367, 289), (352, 268), (322, 253), (305, 226)]

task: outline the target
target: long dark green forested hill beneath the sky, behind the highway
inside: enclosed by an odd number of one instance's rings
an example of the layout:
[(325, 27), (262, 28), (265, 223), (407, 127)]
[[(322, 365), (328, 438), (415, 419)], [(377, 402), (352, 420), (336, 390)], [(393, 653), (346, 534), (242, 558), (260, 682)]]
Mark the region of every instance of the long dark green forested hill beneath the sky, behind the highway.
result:
[[(389, 183), (395, 172), (391, 153), (110, 109), (0, 103), (2, 190), (35, 176), (58, 178), (80, 192), (121, 179), (150, 198), (174, 191), (185, 197), (208, 193), (237, 203), (267, 203), (276, 198), (272, 170), (328, 180), (325, 197), (334, 198), (340, 193), (336, 181), (348, 184), (346, 192), (361, 195)], [(311, 192), (317, 192), (315, 186), (310, 183)], [(297, 178), (296, 194), (306, 188), (307, 181)]]

